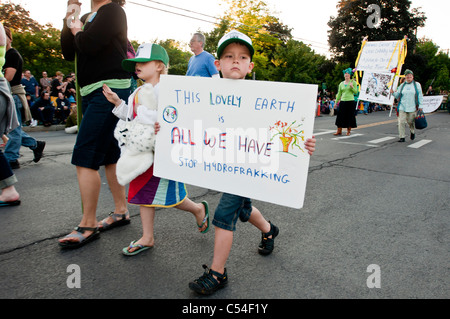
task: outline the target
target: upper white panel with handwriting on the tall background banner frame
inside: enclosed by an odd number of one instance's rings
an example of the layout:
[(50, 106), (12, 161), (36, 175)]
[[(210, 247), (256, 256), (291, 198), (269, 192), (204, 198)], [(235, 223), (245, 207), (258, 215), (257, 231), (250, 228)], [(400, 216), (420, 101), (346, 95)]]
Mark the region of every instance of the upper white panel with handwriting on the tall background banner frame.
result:
[(362, 48), (358, 71), (386, 72), (398, 67), (402, 41), (369, 41)]

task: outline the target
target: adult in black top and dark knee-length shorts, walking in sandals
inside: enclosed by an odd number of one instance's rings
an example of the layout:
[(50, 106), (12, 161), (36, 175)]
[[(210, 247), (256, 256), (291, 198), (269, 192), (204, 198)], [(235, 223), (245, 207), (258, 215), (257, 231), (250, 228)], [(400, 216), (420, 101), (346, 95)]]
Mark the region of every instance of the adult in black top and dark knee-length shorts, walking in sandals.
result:
[[(83, 217), (78, 227), (59, 239), (62, 248), (78, 248), (99, 236), (99, 225), (126, 225), (130, 221), (125, 187), (116, 177), (116, 163), (120, 156), (114, 128), (118, 118), (111, 112), (114, 104), (103, 95), (107, 84), (118, 96), (127, 100), (130, 95), (130, 74), (122, 69), (127, 57), (127, 17), (125, 0), (92, 0), (91, 12), (81, 19), (68, 20), (78, 0), (69, 0), (61, 31), (64, 58), (77, 57), (76, 77), (82, 96), (83, 118), (72, 154), (81, 194)], [(80, 9), (81, 10), (81, 9)], [(108, 186), (114, 200), (114, 211), (102, 222), (97, 221), (97, 202), (101, 178), (98, 172), (105, 167)], [(104, 226), (103, 226), (104, 227)]]

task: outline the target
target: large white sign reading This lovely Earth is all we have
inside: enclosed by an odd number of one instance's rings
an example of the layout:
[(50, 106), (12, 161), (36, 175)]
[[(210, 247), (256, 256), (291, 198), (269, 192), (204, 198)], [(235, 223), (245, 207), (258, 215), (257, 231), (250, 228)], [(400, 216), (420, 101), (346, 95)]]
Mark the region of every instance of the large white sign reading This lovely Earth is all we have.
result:
[(161, 76), (154, 174), (301, 208), (317, 85)]

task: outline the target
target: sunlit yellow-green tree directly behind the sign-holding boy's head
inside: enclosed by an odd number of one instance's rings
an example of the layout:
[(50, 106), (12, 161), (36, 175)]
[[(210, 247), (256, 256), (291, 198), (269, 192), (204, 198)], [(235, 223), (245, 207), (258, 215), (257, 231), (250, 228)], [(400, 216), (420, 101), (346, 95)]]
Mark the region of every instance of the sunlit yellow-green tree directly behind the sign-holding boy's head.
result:
[(253, 42), (254, 75), (257, 80), (320, 84), (334, 63), (295, 41), (284, 25), (258, 0), (227, 0), (229, 9), (206, 36), (205, 50), (215, 54), (220, 38), (232, 29), (247, 34)]

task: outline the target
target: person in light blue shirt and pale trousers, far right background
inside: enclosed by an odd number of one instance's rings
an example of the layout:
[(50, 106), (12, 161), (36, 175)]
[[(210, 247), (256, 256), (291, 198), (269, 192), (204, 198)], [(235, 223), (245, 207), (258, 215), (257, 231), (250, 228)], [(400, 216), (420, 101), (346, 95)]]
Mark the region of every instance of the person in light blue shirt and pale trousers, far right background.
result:
[(411, 70), (405, 71), (406, 81), (397, 88), (397, 92), (391, 88), (391, 93), (398, 100), (398, 135), (399, 142), (405, 142), (405, 124), (408, 124), (411, 140), (416, 138), (415, 117), (416, 111), (422, 111), (423, 93), (419, 82), (414, 81), (414, 73)]

